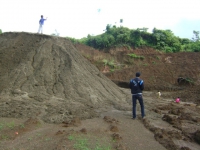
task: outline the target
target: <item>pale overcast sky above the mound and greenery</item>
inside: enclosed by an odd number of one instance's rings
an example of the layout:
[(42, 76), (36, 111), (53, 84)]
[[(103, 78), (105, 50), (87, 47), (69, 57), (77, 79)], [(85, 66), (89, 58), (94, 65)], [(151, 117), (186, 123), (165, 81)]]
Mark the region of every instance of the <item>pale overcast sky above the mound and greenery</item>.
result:
[(83, 38), (103, 33), (107, 24), (130, 29), (147, 27), (151, 32), (170, 29), (191, 39), (200, 31), (200, 0), (1, 0), (0, 29), (32, 32), (39, 19), (48, 17), (44, 34)]

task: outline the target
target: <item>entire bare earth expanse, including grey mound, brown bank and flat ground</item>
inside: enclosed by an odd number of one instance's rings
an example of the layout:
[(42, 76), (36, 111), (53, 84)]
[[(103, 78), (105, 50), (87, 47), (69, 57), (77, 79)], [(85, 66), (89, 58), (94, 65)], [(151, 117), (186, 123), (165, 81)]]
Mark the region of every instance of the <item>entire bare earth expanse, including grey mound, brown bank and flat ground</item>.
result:
[[(0, 45), (0, 150), (200, 149), (200, 53), (103, 53), (24, 32), (1, 34)], [(133, 120), (130, 90), (115, 83), (127, 87), (136, 71), (146, 118), (138, 103)], [(178, 84), (179, 77), (190, 80)]]

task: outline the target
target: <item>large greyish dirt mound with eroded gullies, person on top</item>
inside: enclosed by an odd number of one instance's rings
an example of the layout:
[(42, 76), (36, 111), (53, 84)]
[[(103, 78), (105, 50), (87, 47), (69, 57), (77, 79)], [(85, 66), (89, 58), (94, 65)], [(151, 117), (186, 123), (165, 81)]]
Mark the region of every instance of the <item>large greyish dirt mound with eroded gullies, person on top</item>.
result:
[[(0, 35), (0, 116), (40, 116), (60, 123), (74, 115), (126, 103), (122, 91), (65, 38), (29, 33)], [(119, 105), (119, 106), (118, 106)]]

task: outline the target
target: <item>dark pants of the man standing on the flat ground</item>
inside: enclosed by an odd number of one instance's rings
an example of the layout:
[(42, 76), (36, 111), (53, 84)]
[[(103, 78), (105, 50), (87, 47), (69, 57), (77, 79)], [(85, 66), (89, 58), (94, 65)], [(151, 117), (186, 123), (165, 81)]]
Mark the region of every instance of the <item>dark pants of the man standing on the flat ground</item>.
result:
[(137, 99), (140, 103), (140, 107), (141, 107), (141, 115), (142, 118), (145, 116), (144, 114), (144, 103), (143, 103), (143, 98), (141, 94), (137, 94), (137, 95), (132, 95), (132, 101), (133, 101), (133, 118), (136, 118), (136, 104), (137, 104)]

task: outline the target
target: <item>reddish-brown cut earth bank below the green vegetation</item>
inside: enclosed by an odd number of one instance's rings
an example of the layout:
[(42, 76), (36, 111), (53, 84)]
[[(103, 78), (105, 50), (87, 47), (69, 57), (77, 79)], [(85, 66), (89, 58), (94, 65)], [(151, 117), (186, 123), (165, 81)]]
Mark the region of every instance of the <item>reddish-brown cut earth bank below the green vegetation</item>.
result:
[[(125, 47), (103, 53), (85, 45), (75, 46), (83, 56), (121, 87), (128, 87), (130, 79), (135, 77), (135, 72), (140, 71), (145, 82), (145, 90), (177, 91), (178, 94), (172, 94), (171, 98), (178, 95), (183, 101), (200, 103), (200, 53), (165, 54), (152, 48), (127, 49)], [(128, 54), (135, 54), (144, 59), (133, 58)], [(105, 65), (103, 59), (112, 62), (114, 67), (109, 63)], [(180, 77), (189, 82), (178, 83)]]

